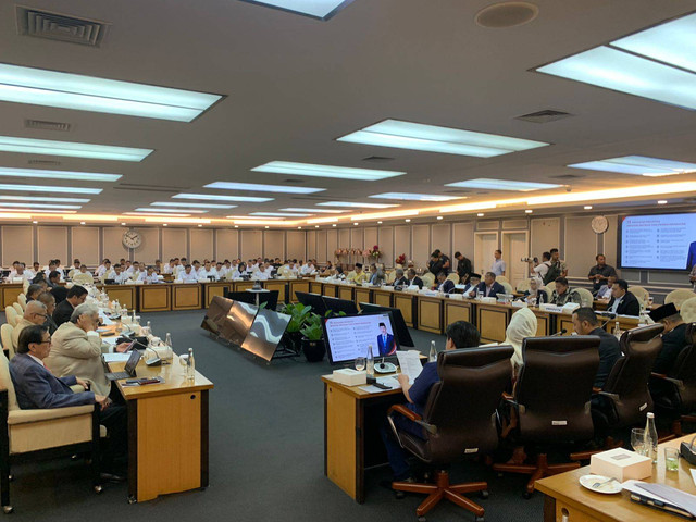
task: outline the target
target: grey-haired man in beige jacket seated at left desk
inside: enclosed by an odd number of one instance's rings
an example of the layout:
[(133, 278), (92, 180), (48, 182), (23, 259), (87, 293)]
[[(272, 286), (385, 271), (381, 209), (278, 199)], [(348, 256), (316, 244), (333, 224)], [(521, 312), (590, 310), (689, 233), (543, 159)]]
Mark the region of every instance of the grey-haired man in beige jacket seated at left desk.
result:
[[(95, 304), (83, 303), (76, 307), (70, 321), (61, 324), (53, 334), (51, 352), (45, 362), (57, 377), (75, 375), (88, 381), (94, 393), (109, 396), (111, 383), (104, 375), (101, 362), (102, 347), (98, 325), (99, 309)], [(127, 346), (122, 343), (116, 351), (125, 351)], [(108, 351), (108, 347), (103, 351)]]

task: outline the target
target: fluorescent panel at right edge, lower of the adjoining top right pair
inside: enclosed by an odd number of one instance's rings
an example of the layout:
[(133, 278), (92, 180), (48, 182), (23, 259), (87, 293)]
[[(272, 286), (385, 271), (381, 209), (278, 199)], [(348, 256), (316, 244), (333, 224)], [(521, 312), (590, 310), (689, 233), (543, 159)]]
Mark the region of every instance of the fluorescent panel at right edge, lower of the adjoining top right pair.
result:
[(696, 110), (696, 74), (609, 47), (597, 47), (537, 71)]

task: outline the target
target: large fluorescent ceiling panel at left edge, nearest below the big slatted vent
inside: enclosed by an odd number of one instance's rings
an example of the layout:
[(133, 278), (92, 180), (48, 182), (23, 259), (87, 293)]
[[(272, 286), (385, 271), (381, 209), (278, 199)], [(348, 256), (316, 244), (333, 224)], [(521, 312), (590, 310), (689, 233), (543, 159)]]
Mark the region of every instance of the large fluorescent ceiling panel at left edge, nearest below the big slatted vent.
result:
[(222, 96), (0, 64), (0, 100), (190, 122)]

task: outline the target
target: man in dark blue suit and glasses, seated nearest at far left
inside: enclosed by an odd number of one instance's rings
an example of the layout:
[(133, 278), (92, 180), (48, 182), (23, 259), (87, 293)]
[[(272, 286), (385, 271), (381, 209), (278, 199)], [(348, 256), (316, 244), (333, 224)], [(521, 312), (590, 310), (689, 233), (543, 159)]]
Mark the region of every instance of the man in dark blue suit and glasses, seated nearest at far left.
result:
[[(17, 355), (10, 361), (10, 375), (17, 402), (23, 410), (69, 408), (98, 403), (101, 407), (99, 424), (107, 427), (108, 444), (102, 451), (103, 472), (113, 472), (114, 457), (127, 456), (127, 415), (125, 406), (112, 405), (109, 397), (87, 391), (89, 385), (74, 375), (54, 376), (44, 364), (51, 351), (51, 336), (44, 325), (24, 328), (20, 336)], [(79, 384), (85, 391), (74, 394), (70, 386)], [(123, 481), (103, 473), (102, 478)]]

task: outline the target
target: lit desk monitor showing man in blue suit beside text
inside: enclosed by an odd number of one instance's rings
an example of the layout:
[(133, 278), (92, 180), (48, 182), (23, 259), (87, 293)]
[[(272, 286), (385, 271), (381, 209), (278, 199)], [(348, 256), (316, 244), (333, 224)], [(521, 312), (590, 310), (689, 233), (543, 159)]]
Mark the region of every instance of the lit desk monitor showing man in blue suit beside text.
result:
[(389, 312), (326, 318), (324, 339), (332, 364), (366, 357), (370, 345), (375, 358), (394, 356), (399, 349)]

